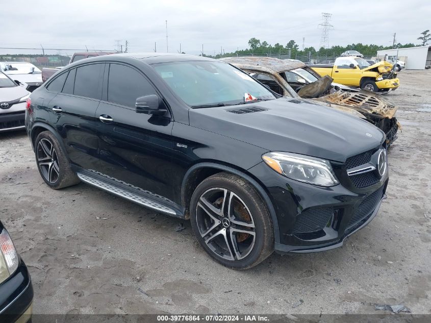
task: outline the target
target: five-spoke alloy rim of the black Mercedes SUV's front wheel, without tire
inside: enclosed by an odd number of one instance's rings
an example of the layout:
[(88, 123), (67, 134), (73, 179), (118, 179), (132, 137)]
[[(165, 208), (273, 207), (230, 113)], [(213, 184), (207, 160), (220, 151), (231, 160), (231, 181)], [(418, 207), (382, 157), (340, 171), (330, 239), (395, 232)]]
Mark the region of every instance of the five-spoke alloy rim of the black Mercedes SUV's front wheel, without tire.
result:
[(241, 198), (228, 189), (212, 188), (200, 195), (196, 222), (209, 249), (223, 259), (241, 260), (255, 245), (253, 217)]

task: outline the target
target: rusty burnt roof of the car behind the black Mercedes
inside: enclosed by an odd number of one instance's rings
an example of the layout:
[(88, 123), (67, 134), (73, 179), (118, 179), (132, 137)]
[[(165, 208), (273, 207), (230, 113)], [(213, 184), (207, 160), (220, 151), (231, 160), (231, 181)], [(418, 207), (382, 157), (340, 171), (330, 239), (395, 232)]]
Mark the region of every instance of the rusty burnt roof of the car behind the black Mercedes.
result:
[(275, 73), (284, 72), (300, 67), (307, 66), (305, 63), (297, 60), (282, 60), (275, 57), (226, 57), (220, 59), (223, 62), (233, 64), (241, 69), (253, 69), (270, 71)]

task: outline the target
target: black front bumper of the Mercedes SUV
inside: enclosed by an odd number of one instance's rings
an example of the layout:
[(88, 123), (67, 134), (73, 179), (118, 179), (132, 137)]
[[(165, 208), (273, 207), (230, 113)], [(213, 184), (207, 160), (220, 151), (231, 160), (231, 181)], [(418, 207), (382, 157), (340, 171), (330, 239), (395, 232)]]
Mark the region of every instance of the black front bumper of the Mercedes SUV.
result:
[(275, 241), (276, 252), (307, 253), (334, 249), (376, 216), (385, 197), (388, 172), (378, 182), (356, 188), (342, 167), (341, 164), (339, 168), (333, 165), (341, 182), (333, 187), (290, 180), (265, 163), (248, 170), (266, 187), (275, 209), (278, 225), (275, 236), (280, 237)]

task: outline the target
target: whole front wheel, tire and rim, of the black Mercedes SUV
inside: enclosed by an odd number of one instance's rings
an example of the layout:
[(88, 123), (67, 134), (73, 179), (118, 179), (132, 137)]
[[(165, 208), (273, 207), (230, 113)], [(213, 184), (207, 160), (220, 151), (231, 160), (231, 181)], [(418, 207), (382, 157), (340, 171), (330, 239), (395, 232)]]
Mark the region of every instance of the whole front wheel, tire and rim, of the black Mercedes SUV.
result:
[[(225, 192), (222, 190), (225, 190)], [(211, 194), (213, 194), (213, 196), (211, 196)], [(220, 197), (217, 198), (217, 194), (220, 194)], [(225, 195), (223, 196), (223, 194)], [(229, 196), (231, 197), (229, 198), (229, 203), (225, 205), (223, 201), (228, 200), (226, 197), (227, 194), (230, 194)], [(206, 196), (210, 197), (207, 199)], [(212, 203), (211, 198), (217, 198), (217, 200)], [(210, 218), (208, 216), (208, 210), (210, 209), (207, 208), (207, 211), (205, 211), (204, 208), (201, 207), (204, 201), (212, 203), (214, 209), (217, 209), (216, 203), (219, 203), (219, 210), (222, 212), (222, 215), (219, 215), (220, 221), (225, 221), (227, 218), (235, 223), (227, 221), (230, 223), (229, 225), (231, 227), (223, 228), (226, 223), (220, 222), (219, 227), (214, 228), (213, 231), (209, 231), (208, 235), (205, 235), (205, 238), (202, 237), (202, 231), (204, 231), (205, 234), (208, 227), (216, 225), (216, 222), (212, 218), (210, 219), (210, 221), (212, 221), (211, 223), (202, 219), (205, 217), (208, 219)], [(224, 206), (224, 208), (222, 208), (222, 206)], [(223, 212), (222, 209), (233, 210), (231, 214), (232, 217), (231, 215), (228, 216), (227, 212)], [(244, 212), (247, 213), (244, 215)], [(217, 216), (214, 213), (212, 214)], [(199, 243), (204, 247), (204, 250), (214, 260), (226, 267), (233, 269), (251, 268), (264, 261), (274, 250), (273, 226), (265, 202), (262, 200), (262, 197), (253, 185), (232, 173), (217, 173), (205, 179), (196, 187), (190, 201), (190, 220), (193, 232)], [(238, 225), (238, 223), (245, 223), (245, 221), (253, 223), (254, 227), (245, 228), (247, 226), (244, 226), (243, 224)], [(205, 225), (204, 222), (208, 226), (205, 229), (202, 227)], [(243, 233), (244, 231), (242, 233), (238, 233), (237, 230), (240, 230), (241, 228), (245, 228), (247, 230), (246, 232), (249, 232), (248, 230), (254, 230), (255, 235)], [(219, 234), (222, 230), (225, 230), (226, 235), (224, 237), (229, 236), (230, 239), (223, 239), (223, 235)], [(220, 241), (219, 244), (216, 242), (217, 239)], [(211, 242), (207, 244), (206, 240), (210, 240)], [(224, 241), (226, 243), (224, 243)], [(224, 255), (222, 252), (216, 253), (214, 251), (214, 249), (220, 251), (224, 244), (227, 246), (225, 249), (227, 252)], [(241, 251), (241, 249), (243, 250)], [(226, 259), (230, 257), (229, 250), (231, 251), (230, 255), (233, 255), (233, 259)], [(238, 257), (238, 255), (240, 257)]]

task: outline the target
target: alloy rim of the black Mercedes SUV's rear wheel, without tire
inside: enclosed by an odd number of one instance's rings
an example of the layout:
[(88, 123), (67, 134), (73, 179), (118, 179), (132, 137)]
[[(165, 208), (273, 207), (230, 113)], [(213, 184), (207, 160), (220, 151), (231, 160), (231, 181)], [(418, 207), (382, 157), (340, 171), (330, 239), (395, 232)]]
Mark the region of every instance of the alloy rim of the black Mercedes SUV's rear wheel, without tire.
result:
[(54, 144), (47, 138), (40, 139), (37, 145), (37, 163), (42, 176), (49, 183), (56, 183), (60, 175), (57, 152)]

